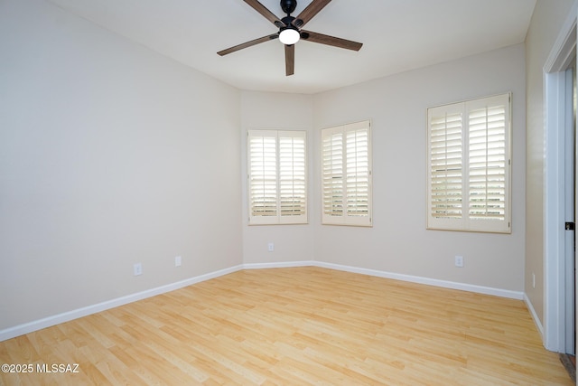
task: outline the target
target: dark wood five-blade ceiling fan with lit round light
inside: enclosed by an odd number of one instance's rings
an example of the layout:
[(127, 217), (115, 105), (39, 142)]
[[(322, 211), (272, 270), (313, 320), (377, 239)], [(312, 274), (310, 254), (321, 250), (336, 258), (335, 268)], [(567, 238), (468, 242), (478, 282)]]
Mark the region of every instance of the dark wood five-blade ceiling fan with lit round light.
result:
[(262, 5), (257, 0), (244, 0), (245, 3), (253, 7), (259, 14), (275, 24), (279, 28), (278, 33), (269, 34), (261, 38), (244, 42), (236, 46), (230, 47), (227, 50), (217, 52), (220, 56), (227, 55), (231, 52), (237, 52), (247, 47), (259, 44), (261, 42), (268, 42), (279, 39), (285, 45), (285, 74), (286, 76), (294, 74), (295, 67), (295, 43), (300, 39), (309, 42), (318, 42), (322, 44), (332, 45), (334, 47), (345, 48), (347, 50), (359, 51), (363, 45), (360, 42), (352, 42), (350, 40), (341, 39), (335, 36), (325, 35), (323, 33), (313, 33), (311, 31), (302, 30), (303, 25), (309, 22), (312, 17), (318, 14), (325, 5), (328, 5), (331, 0), (313, 0), (310, 5), (307, 5), (301, 14), (296, 17), (292, 16), (297, 6), (296, 0), (281, 0), (281, 9), (286, 16), (279, 19), (275, 14), (269, 11), (265, 5)]

